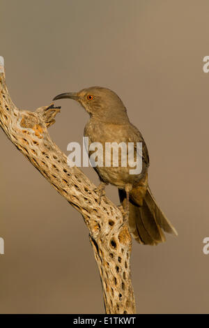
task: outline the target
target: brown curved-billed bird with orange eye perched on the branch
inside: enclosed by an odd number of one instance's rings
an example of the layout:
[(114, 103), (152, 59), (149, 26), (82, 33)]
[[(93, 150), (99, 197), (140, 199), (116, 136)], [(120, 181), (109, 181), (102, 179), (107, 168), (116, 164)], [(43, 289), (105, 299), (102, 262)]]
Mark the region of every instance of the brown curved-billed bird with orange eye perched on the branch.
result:
[[(121, 209), (127, 218), (132, 237), (144, 245), (157, 245), (166, 241), (164, 232), (178, 235), (176, 229), (164, 215), (150, 191), (148, 185), (148, 167), (150, 164), (146, 142), (127, 116), (127, 109), (119, 96), (104, 87), (88, 87), (79, 92), (65, 92), (53, 100), (70, 98), (76, 100), (88, 112), (90, 119), (84, 128), (84, 137), (88, 137), (89, 146), (100, 142), (123, 142), (134, 144), (136, 156), (137, 143), (141, 142), (141, 172), (130, 174), (130, 166), (96, 165), (94, 170), (100, 179), (98, 192), (100, 200), (105, 195), (107, 184), (118, 188)], [(92, 151), (88, 152), (91, 157)]]

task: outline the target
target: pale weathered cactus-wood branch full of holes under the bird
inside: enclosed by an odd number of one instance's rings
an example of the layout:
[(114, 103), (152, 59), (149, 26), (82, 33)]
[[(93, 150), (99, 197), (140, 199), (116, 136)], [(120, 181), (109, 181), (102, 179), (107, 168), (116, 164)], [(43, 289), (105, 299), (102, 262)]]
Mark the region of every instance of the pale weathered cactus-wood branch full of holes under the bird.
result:
[[(68, 167), (67, 157), (50, 139), (47, 127), (54, 124), (60, 107), (53, 104), (35, 112), (19, 110), (12, 102), (0, 70), (0, 126), (17, 149), (84, 217), (95, 260), (100, 271), (106, 313), (135, 313), (130, 278), (131, 237), (121, 211), (77, 167)], [(2, 72), (2, 73), (1, 73)]]

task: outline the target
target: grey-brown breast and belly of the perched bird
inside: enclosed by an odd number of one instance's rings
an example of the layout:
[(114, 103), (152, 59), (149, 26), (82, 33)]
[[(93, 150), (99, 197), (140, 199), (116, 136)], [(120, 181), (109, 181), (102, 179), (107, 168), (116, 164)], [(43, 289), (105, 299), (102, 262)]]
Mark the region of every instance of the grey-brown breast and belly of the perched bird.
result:
[[(114, 144), (123, 143), (127, 145), (128, 142), (137, 142), (136, 135), (134, 133), (132, 134), (130, 131), (130, 124), (106, 124), (90, 119), (84, 128), (84, 137), (88, 137), (88, 149), (86, 150), (88, 151), (91, 165), (93, 165), (93, 168), (98, 173), (101, 180), (118, 186), (118, 188), (124, 188), (125, 184), (134, 185), (141, 179), (141, 177), (144, 177), (144, 169), (140, 174), (130, 174), (132, 167), (130, 167), (128, 163), (126, 166), (123, 166), (123, 156), (121, 156), (123, 155), (122, 151), (118, 151), (118, 165), (114, 161), (114, 151), (111, 150), (110, 154), (107, 151), (109, 144), (111, 144), (113, 149)], [(96, 158), (93, 155), (94, 151), (92, 150), (95, 143), (102, 145), (102, 151), (101, 149), (100, 151), (97, 149), (98, 156)], [(109, 156), (110, 159), (107, 160)], [(125, 156), (127, 156), (127, 154), (125, 154)], [(98, 159), (100, 160), (100, 165), (94, 166), (95, 159), (97, 162)]]

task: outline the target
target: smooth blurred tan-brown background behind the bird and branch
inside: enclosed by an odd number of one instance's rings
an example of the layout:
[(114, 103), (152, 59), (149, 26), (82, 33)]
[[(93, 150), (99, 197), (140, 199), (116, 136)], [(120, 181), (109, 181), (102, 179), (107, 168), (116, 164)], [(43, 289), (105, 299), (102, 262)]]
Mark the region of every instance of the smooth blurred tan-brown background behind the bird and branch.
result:
[[(0, 54), (18, 107), (35, 110), (94, 85), (121, 96), (150, 153), (150, 186), (178, 230), (133, 243), (139, 313), (208, 313), (208, 0), (1, 0)], [(52, 139), (82, 141), (88, 115), (72, 100)], [(82, 216), (0, 131), (0, 313), (104, 313)], [(95, 184), (92, 168), (84, 170)], [(107, 195), (118, 204), (116, 188)]]

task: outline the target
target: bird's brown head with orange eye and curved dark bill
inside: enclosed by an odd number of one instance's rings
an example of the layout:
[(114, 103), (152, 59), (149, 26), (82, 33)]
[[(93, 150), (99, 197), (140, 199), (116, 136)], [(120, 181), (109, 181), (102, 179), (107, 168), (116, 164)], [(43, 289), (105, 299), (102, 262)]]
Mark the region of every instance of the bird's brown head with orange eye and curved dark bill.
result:
[(90, 87), (82, 89), (79, 92), (65, 92), (54, 97), (53, 100), (70, 98), (77, 100), (86, 112), (93, 117), (100, 119), (112, 117), (115, 114), (119, 114), (123, 117), (123, 114), (127, 117), (125, 106), (122, 100), (117, 96), (114, 91), (102, 87)]

